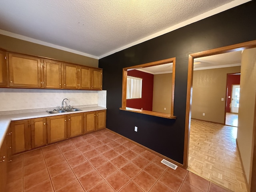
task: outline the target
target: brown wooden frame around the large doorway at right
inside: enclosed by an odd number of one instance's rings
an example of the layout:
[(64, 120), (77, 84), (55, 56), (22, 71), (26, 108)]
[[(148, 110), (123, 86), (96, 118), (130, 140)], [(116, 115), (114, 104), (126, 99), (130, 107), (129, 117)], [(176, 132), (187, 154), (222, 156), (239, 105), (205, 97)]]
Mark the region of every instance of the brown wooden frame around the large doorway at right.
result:
[[(206, 50), (202, 52), (197, 52), (189, 54), (188, 56), (188, 83), (187, 83), (187, 99), (186, 99), (186, 119), (185, 119), (185, 135), (184, 135), (184, 154), (183, 154), (183, 166), (188, 168), (188, 146), (189, 146), (189, 134), (190, 134), (190, 122), (191, 122), (191, 105), (192, 105), (192, 82), (193, 82), (193, 68), (194, 59), (211, 56), (216, 54), (228, 53), (233, 51), (240, 51), (249, 48), (256, 47), (256, 40), (248, 41), (244, 43), (234, 44), (230, 46), (225, 46), (221, 48), (216, 48), (212, 50)], [(256, 104), (255, 104), (256, 110)], [(256, 138), (256, 118), (254, 118), (254, 128), (253, 128), (254, 138)], [(254, 139), (253, 144), (253, 154), (252, 154), (252, 169), (250, 170), (250, 181), (248, 188), (250, 192), (256, 191), (256, 139)], [(254, 172), (252, 172), (254, 171)]]

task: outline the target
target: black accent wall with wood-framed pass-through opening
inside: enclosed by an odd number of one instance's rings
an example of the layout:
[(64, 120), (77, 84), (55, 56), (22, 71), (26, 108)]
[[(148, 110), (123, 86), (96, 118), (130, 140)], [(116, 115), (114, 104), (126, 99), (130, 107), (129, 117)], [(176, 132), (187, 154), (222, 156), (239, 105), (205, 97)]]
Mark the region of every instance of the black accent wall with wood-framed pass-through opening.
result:
[[(99, 60), (107, 90), (107, 128), (183, 164), (188, 54), (256, 40), (256, 1)], [(122, 111), (122, 68), (176, 57), (176, 120)], [(138, 127), (138, 132), (134, 131)]]

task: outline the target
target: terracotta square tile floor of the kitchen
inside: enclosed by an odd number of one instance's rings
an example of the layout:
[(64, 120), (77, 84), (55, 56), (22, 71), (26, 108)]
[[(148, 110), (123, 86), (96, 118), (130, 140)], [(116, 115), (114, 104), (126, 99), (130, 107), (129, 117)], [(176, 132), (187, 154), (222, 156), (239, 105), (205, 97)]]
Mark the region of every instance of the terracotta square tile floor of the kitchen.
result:
[(102, 130), (13, 156), (8, 192), (228, 192)]

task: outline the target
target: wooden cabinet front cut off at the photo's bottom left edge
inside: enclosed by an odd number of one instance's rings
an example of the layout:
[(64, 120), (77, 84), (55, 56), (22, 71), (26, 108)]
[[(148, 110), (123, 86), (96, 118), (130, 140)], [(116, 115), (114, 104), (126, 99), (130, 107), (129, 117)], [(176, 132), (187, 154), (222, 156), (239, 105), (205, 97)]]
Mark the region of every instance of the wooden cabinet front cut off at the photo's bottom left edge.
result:
[(2, 143), (0, 148), (0, 191), (6, 191), (6, 183), (7, 183), (7, 140), (6, 137)]

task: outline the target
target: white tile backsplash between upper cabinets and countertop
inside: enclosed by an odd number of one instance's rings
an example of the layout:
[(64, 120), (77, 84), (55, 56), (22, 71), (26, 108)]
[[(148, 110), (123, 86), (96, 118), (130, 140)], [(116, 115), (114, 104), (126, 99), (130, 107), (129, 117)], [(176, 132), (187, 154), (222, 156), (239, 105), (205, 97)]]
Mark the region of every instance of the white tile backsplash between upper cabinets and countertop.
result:
[(106, 107), (106, 91), (0, 88), (0, 111), (52, 108), (61, 106), (64, 98), (71, 106)]

